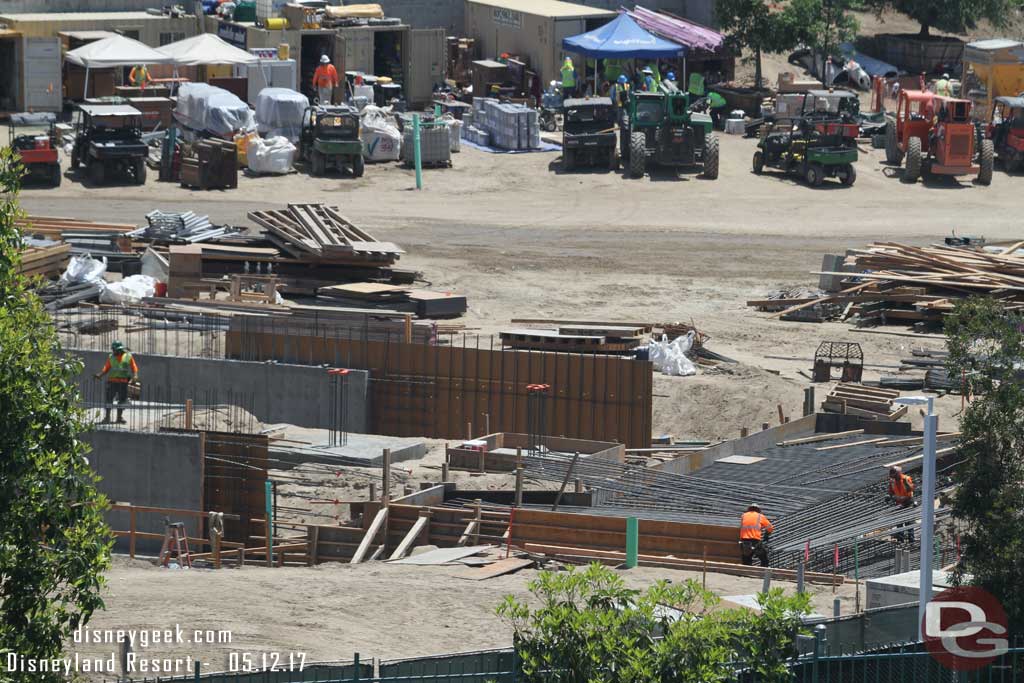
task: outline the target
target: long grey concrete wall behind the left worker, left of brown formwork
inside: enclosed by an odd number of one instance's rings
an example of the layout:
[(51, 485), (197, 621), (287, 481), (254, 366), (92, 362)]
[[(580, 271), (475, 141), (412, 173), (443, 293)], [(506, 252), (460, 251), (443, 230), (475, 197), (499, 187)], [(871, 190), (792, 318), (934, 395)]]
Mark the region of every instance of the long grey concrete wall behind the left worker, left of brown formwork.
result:
[[(79, 378), (84, 393), (86, 383), (94, 382), (92, 375), (102, 368), (108, 354), (103, 351), (73, 353), (85, 362), (85, 371)], [(229, 392), (233, 392), (241, 394), (243, 407), (252, 410), (260, 422), (288, 423), (317, 429), (331, 426), (333, 385), (323, 368), (138, 353), (135, 354), (135, 361), (138, 364), (139, 380), (142, 383), (142, 400), (146, 398), (146, 387), (159, 387), (159, 391), (165, 396), (180, 394), (187, 397), (191, 394), (194, 400), (200, 402), (207, 391), (216, 392), (222, 402)], [(344, 426), (347, 431), (369, 431), (369, 375), (367, 371), (352, 370), (345, 379)]]

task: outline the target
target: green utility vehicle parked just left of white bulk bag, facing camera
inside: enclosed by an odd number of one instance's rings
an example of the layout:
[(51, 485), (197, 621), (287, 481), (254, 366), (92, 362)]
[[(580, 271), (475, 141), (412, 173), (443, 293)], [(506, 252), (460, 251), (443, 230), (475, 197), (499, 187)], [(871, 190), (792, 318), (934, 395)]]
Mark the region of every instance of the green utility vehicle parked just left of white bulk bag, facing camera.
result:
[(343, 172), (347, 166), (356, 178), (362, 176), (362, 140), (359, 114), (350, 106), (310, 106), (302, 115), (299, 154), (312, 175), (328, 169)]

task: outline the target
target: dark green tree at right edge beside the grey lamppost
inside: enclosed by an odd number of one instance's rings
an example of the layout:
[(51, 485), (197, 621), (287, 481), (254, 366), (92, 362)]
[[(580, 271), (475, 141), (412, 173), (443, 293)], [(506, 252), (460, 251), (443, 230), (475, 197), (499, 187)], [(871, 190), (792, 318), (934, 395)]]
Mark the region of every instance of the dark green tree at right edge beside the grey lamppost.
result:
[(951, 377), (972, 396), (961, 417), (953, 516), (966, 526), (956, 575), (998, 598), (1024, 627), (1024, 314), (991, 299), (956, 305), (945, 326)]

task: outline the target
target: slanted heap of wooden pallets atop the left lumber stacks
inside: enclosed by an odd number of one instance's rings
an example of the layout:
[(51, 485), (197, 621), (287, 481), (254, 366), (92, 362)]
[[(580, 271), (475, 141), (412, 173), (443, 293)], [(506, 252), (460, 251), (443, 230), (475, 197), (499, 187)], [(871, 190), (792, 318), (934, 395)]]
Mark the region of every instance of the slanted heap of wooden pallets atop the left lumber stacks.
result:
[(403, 253), (378, 242), (325, 204), (289, 204), (287, 209), (251, 211), (249, 218), (281, 250), (302, 261), (392, 265)]

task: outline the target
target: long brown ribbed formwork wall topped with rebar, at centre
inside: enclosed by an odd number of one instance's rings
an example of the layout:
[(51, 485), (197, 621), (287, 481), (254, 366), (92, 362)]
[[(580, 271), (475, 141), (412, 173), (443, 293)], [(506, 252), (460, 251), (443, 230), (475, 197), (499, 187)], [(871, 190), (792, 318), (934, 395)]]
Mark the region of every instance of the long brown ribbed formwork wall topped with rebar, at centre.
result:
[(630, 447), (650, 444), (652, 367), (577, 353), (434, 346), (231, 330), (227, 357), (368, 370), (371, 430), (390, 436), (465, 438), (527, 432), (528, 384), (549, 384), (547, 432)]

